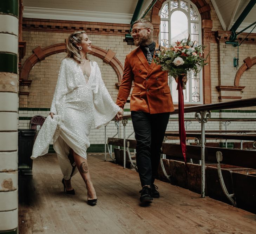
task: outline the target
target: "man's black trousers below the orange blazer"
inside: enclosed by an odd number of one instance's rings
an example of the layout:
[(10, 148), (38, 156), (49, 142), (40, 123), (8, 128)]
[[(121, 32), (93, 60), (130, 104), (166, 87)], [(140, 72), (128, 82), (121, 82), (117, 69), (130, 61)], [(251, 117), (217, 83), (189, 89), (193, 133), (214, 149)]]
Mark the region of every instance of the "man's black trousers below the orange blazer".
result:
[(143, 187), (154, 183), (157, 176), (161, 147), (170, 114), (132, 111), (131, 116), (137, 141), (136, 162)]

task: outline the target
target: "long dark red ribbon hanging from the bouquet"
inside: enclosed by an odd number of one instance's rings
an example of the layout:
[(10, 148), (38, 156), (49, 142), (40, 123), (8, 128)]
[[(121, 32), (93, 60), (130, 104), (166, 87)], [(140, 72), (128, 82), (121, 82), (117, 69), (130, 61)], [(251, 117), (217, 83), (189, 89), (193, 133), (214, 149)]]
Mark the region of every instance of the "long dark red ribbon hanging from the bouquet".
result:
[(184, 157), (185, 165), (186, 161), (186, 131), (184, 126), (184, 97), (183, 97), (183, 81), (184, 75), (178, 76), (178, 97), (179, 97), (179, 141)]

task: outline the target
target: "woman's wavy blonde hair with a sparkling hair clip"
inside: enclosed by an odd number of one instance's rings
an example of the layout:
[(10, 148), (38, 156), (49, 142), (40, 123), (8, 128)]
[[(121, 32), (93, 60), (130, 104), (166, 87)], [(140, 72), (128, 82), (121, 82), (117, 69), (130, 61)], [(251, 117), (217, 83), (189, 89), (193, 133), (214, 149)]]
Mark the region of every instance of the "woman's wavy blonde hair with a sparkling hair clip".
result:
[[(81, 63), (81, 61), (83, 60), (80, 54), (79, 48), (77, 47), (77, 44), (80, 43), (83, 39), (83, 34), (86, 34), (86, 32), (85, 31), (73, 32), (69, 35), (68, 42), (67, 42), (66, 58), (72, 58), (76, 60), (78, 63)], [(87, 53), (85, 55), (85, 58), (88, 59)]]

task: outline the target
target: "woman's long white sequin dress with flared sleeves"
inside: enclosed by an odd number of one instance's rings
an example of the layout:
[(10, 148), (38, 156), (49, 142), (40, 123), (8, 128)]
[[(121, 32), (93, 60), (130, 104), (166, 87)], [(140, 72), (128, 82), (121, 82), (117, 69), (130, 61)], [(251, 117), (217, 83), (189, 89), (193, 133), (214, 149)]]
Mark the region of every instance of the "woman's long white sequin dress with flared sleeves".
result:
[[(91, 74), (86, 80), (82, 69), (73, 59), (64, 59), (61, 62), (58, 81), (53, 96), (51, 112), (56, 118), (53, 136), (53, 148), (57, 153), (64, 179), (70, 179), (75, 174), (68, 154), (70, 148), (78, 155), (87, 158), (86, 150), (90, 146), (88, 135), (92, 124), (100, 128), (111, 121), (119, 111), (107, 91), (97, 62), (90, 62)], [(51, 120), (47, 121), (51, 125)], [(45, 153), (45, 142), (52, 135), (42, 126), (34, 143), (32, 158)], [(48, 129), (51, 127), (48, 126)], [(48, 135), (48, 136), (47, 136)], [(48, 143), (46, 143), (47, 145)]]

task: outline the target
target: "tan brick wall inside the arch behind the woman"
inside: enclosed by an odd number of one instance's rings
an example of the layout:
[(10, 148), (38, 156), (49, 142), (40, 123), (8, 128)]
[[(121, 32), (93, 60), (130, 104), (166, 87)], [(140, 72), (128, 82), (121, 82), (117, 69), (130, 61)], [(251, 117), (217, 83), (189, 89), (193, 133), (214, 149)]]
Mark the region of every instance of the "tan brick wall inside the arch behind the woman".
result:
[[(20, 103), (20, 107), (50, 108), (60, 64), (65, 57), (65, 52), (54, 54), (35, 64), (28, 76), (32, 83), (28, 87), (27, 106), (23, 106)], [(104, 63), (103, 60), (96, 56), (89, 55), (89, 58), (98, 63), (105, 86), (115, 101), (118, 94), (118, 89), (115, 85), (118, 82), (116, 72), (109, 64)]]

